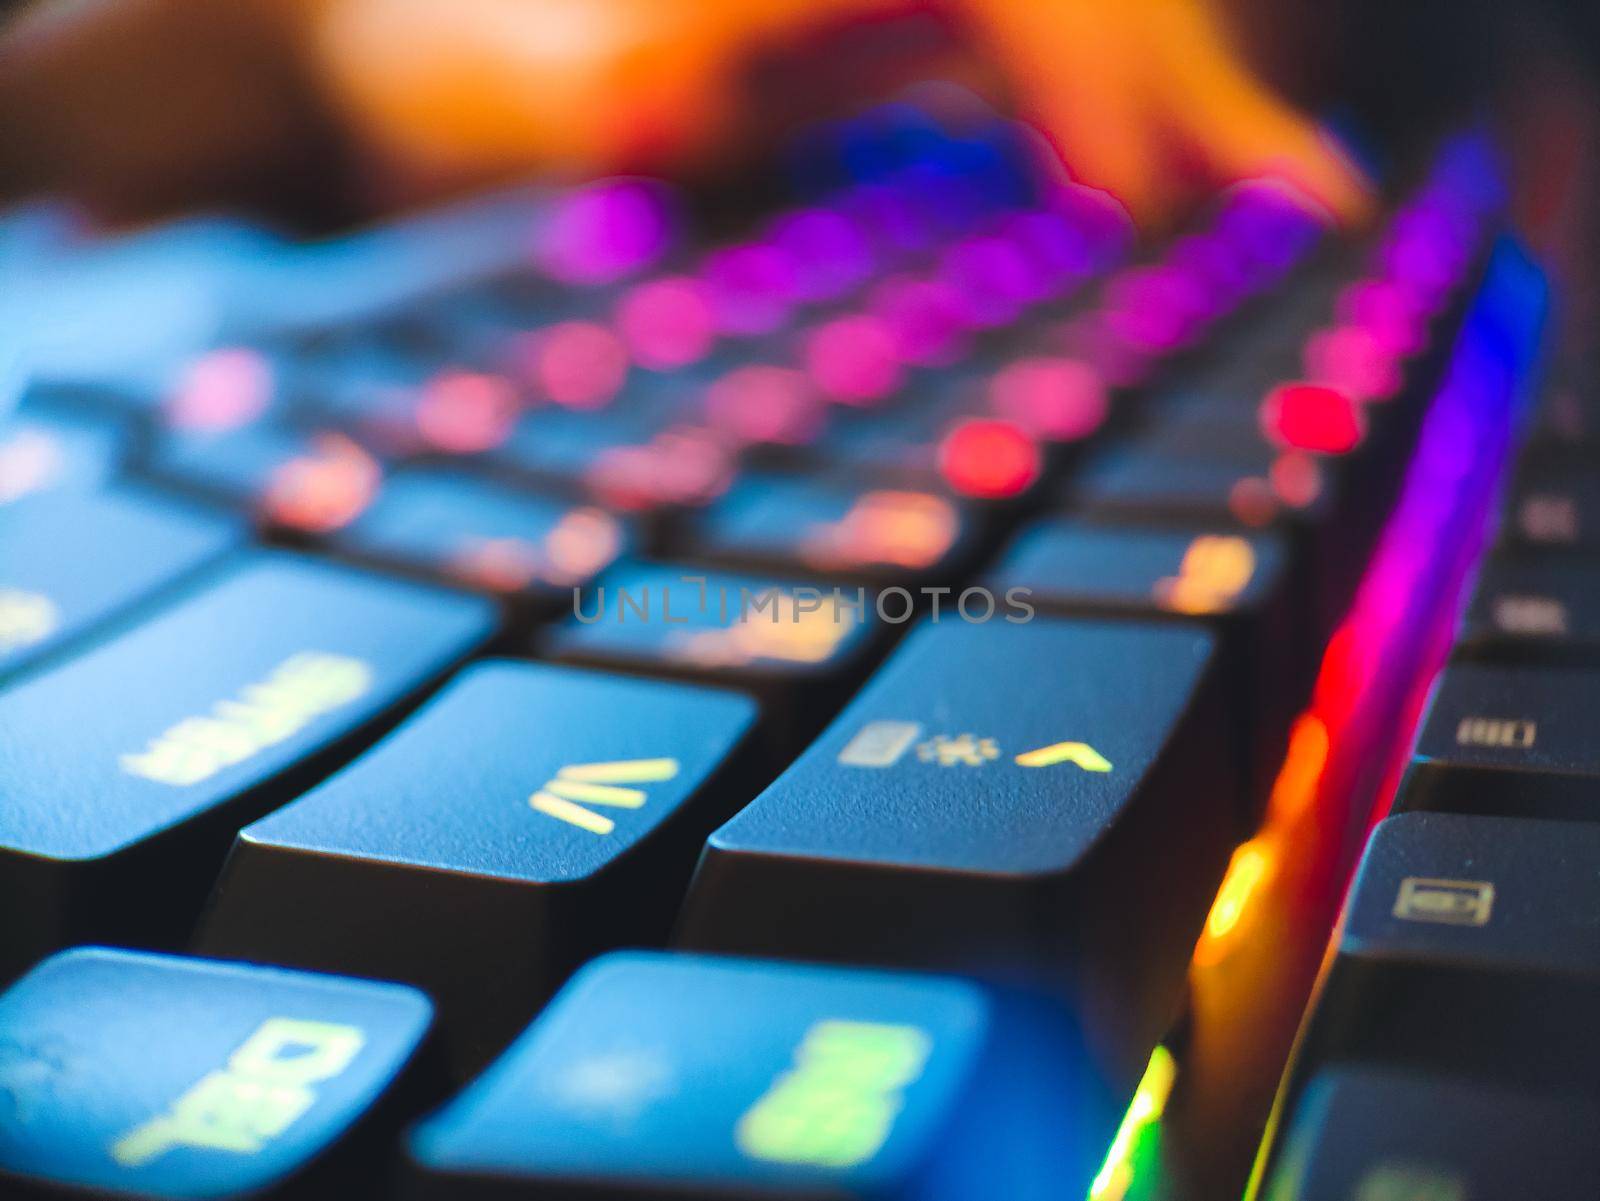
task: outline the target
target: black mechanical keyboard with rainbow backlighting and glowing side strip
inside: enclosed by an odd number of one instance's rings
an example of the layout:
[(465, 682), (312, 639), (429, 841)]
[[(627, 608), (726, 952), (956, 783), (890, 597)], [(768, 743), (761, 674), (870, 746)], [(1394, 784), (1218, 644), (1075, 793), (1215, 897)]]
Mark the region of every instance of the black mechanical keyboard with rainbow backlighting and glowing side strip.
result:
[(790, 163), (50, 251), (5, 1195), (1595, 1196), (1595, 427), (1491, 142), (1147, 240), (989, 114)]

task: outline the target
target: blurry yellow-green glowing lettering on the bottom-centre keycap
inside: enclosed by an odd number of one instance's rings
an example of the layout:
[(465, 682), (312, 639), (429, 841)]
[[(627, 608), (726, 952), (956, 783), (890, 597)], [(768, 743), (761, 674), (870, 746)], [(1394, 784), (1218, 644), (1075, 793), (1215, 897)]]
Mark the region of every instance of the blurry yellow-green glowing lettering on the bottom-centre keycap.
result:
[(902, 1091), (922, 1075), (933, 1041), (917, 1027), (818, 1022), (795, 1065), (734, 1127), (752, 1159), (854, 1167), (890, 1137)]

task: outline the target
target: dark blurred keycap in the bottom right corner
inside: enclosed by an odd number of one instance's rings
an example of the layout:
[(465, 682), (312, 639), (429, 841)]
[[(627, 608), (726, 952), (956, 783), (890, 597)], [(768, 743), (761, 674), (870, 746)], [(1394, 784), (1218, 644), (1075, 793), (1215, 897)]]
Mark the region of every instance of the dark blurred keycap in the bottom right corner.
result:
[(1587, 1201), (1600, 1107), (1382, 1067), (1318, 1075), (1262, 1201)]

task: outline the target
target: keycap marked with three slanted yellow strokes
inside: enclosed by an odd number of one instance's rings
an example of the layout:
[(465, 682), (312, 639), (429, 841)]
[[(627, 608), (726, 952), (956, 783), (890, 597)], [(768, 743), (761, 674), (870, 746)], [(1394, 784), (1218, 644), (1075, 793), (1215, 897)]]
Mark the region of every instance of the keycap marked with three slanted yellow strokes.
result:
[(243, 828), (195, 945), (426, 988), (470, 1075), (578, 963), (666, 939), (706, 833), (749, 798), (754, 723), (733, 692), (467, 668)]

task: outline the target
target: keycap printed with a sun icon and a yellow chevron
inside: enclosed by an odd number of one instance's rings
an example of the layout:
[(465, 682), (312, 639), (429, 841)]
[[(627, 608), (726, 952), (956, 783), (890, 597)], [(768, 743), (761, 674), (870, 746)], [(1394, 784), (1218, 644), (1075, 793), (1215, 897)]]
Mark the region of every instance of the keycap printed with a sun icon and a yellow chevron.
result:
[(712, 835), (680, 942), (1048, 988), (1136, 1078), (1237, 841), (1227, 704), (1203, 628), (925, 622)]

